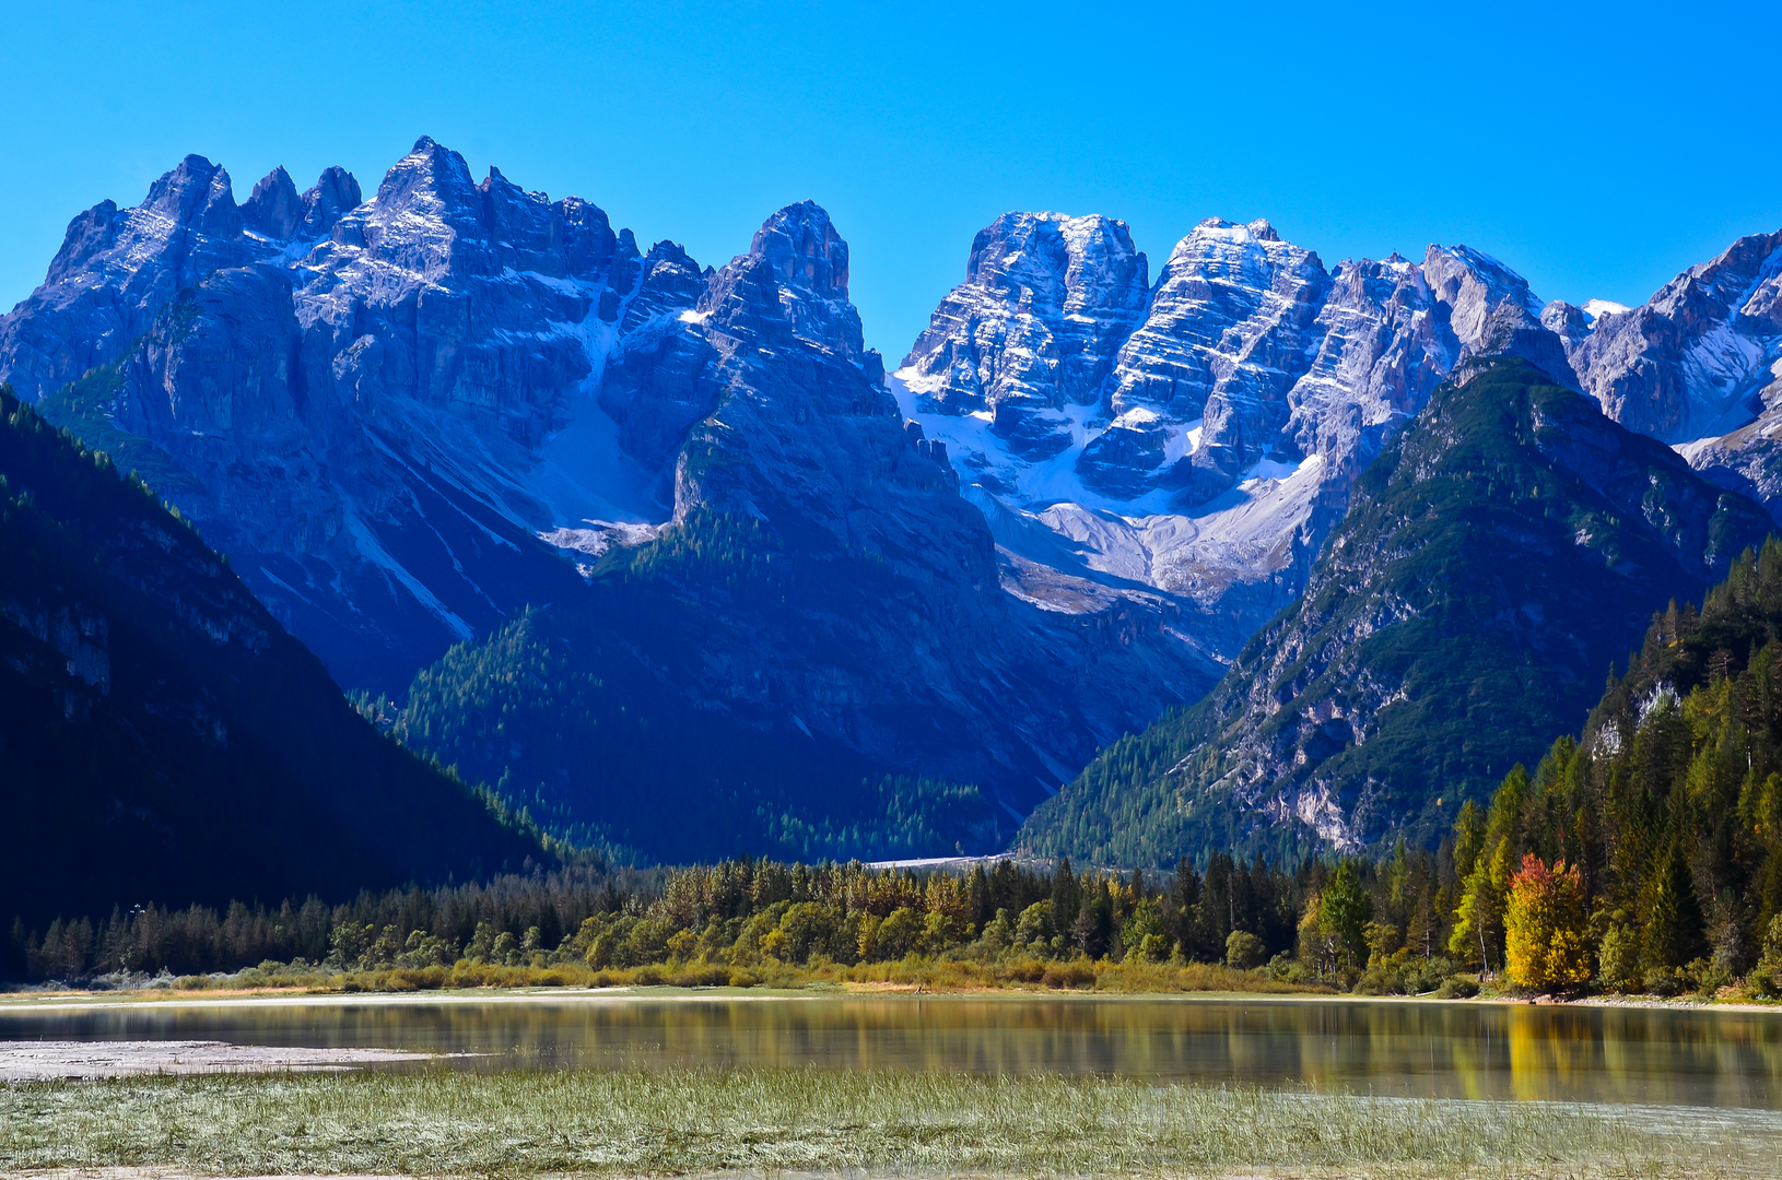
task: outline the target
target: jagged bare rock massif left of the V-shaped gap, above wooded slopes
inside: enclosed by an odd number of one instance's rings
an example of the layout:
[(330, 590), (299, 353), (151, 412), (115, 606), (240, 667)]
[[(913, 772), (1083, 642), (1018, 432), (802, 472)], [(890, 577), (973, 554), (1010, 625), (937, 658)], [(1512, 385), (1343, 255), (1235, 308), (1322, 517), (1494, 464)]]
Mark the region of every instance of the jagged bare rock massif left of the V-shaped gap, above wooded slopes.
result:
[[(864, 349), (822, 208), (713, 272), (429, 139), (358, 196), (274, 171), (237, 208), (187, 160), (143, 208), (77, 219), (0, 322), (0, 376), (180, 504), (342, 682), (401, 692), (524, 603), (649, 582), (663, 634), (602, 618), (679, 699), (1016, 808), (1212, 682), (1144, 587), (1069, 612), (1003, 593), (946, 447)], [(1092, 384), (1114, 331), (1059, 372)], [(677, 564), (738, 529), (795, 577), (772, 609)]]

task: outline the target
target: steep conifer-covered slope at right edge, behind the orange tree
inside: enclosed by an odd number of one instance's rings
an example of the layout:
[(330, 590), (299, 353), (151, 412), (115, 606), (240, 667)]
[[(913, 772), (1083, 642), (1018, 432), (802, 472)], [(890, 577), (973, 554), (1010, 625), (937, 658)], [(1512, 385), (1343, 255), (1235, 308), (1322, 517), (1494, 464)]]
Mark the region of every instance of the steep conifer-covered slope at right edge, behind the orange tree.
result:
[(1456, 952), (1504, 961), (1506, 883), (1531, 853), (1577, 869), (1606, 988), (1714, 988), (1782, 936), (1782, 543), (1700, 614), (1655, 618), (1579, 735), (1463, 817)]

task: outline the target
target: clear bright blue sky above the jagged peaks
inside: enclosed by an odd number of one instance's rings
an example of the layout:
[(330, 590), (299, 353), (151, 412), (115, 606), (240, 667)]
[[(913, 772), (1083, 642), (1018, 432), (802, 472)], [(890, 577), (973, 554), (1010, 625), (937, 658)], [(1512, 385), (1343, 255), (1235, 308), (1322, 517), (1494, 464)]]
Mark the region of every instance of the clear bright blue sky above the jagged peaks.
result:
[(722, 263), (814, 198), (898, 360), (1003, 210), (1151, 272), (1208, 215), (1326, 263), (1467, 242), (1643, 301), (1782, 228), (1777, 4), (27, 4), (0, 0), (0, 306), (187, 151), (237, 198), (421, 133)]

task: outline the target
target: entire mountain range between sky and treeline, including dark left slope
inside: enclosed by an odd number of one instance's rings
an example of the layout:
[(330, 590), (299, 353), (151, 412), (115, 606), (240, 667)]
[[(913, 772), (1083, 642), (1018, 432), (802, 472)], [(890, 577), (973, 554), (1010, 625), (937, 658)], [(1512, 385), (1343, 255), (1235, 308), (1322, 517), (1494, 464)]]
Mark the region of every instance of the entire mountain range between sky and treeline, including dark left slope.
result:
[[(1427, 845), (1782, 520), (1782, 233), (1579, 308), (1012, 212), (889, 363), (820, 205), (738, 247), (431, 139), (77, 215), (0, 317), (29, 831), (185, 901)], [(20, 911), (68, 904), (37, 844)]]

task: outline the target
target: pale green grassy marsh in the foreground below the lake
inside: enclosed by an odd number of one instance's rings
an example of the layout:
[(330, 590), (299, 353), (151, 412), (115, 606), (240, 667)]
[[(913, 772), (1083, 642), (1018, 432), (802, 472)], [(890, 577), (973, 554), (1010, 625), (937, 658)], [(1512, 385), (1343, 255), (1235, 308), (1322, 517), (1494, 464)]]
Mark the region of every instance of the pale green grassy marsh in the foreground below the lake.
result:
[[(1716, 1139), (1720, 1139), (1716, 1143)], [(1771, 1175), (1782, 1137), (1602, 1107), (1110, 1079), (620, 1070), (0, 1087), (0, 1171)]]

